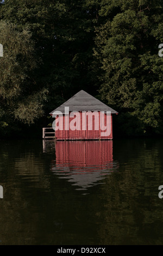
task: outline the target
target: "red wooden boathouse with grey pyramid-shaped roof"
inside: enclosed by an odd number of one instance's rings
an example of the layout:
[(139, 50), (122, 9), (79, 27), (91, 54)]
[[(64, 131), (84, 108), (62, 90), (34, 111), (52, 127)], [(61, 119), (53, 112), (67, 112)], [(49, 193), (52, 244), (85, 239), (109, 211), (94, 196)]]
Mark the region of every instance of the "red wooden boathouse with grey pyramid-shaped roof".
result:
[(80, 90), (50, 113), (55, 121), (55, 139), (112, 139), (114, 109)]

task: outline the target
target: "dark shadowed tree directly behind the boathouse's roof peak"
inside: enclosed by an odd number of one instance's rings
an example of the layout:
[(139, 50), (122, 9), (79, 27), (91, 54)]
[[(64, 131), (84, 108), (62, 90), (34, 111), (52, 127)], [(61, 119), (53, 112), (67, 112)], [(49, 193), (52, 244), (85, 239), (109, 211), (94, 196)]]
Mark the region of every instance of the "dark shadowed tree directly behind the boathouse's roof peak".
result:
[[(80, 89), (92, 93), (96, 81), (91, 72), (97, 21), (94, 6), (84, 0), (5, 0), (0, 17), (14, 24), (18, 32), (30, 32), (35, 57), (42, 60), (30, 72), (30, 81), (36, 90), (48, 90), (43, 106), (46, 114)], [(21, 112), (16, 113), (20, 116)]]

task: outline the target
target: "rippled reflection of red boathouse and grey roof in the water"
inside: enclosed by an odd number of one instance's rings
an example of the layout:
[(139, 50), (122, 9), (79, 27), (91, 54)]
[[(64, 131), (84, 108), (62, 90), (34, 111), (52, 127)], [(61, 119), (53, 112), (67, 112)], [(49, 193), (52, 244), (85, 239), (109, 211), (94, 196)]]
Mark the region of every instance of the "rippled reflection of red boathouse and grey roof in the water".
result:
[(55, 144), (52, 171), (78, 189), (86, 189), (117, 169), (112, 141), (60, 141)]

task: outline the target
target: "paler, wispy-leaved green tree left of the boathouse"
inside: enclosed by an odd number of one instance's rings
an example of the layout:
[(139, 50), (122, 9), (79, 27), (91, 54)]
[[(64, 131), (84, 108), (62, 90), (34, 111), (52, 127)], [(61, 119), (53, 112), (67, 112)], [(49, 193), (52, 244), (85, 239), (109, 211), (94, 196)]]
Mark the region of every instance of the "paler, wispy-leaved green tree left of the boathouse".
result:
[(0, 42), (4, 50), (0, 59), (0, 128), (10, 126), (10, 130), (16, 120), (32, 124), (43, 114), (45, 89), (37, 88), (30, 79), (39, 60), (28, 29), (19, 32), (16, 25), (0, 21)]

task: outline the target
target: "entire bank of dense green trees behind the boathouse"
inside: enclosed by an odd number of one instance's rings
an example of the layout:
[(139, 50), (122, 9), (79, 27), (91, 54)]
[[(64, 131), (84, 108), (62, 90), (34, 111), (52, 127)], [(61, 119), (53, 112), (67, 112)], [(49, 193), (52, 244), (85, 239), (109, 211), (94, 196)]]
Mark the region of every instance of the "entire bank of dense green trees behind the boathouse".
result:
[(117, 134), (163, 133), (161, 0), (2, 2), (2, 136), (38, 120), (41, 130), (80, 89), (120, 113)]

